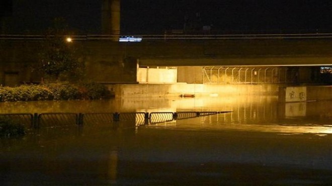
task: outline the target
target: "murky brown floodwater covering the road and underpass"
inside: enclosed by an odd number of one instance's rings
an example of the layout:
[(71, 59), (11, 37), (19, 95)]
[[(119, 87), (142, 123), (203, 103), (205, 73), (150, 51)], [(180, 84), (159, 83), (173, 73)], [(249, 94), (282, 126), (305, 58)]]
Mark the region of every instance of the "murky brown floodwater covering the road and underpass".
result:
[(332, 184), (332, 102), (209, 97), (0, 103), (0, 113), (232, 111), (0, 139), (1, 185)]

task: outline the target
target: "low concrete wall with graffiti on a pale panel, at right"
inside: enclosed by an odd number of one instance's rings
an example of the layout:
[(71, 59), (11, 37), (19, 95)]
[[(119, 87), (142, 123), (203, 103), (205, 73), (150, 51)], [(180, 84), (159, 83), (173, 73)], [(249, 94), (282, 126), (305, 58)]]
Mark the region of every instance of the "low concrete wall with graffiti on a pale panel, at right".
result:
[(332, 86), (289, 86), (279, 88), (279, 102), (332, 100)]

